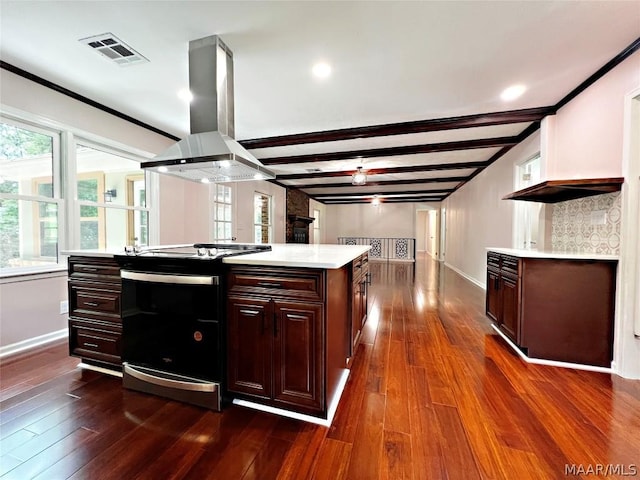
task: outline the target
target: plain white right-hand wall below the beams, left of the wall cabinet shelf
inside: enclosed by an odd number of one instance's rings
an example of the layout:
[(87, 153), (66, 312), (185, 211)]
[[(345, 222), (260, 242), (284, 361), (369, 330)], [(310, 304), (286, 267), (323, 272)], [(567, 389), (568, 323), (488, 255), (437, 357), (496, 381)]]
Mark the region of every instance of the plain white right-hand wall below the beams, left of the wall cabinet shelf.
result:
[(484, 286), (487, 247), (511, 247), (513, 206), (502, 200), (513, 191), (515, 165), (540, 149), (537, 132), (453, 193), (447, 209), (446, 263)]

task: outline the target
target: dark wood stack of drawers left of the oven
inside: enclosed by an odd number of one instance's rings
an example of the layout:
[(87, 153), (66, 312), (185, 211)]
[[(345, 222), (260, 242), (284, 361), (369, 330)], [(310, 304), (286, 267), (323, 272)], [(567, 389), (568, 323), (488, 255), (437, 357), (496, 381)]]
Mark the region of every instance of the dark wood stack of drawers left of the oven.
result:
[(120, 267), (111, 258), (69, 258), (69, 354), (120, 370)]

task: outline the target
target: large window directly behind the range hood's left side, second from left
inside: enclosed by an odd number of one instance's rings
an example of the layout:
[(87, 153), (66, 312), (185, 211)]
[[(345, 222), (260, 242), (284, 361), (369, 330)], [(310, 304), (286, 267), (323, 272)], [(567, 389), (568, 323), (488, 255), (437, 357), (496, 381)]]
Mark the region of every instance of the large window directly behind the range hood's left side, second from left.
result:
[(81, 250), (148, 245), (146, 182), (140, 163), (102, 145), (76, 145)]

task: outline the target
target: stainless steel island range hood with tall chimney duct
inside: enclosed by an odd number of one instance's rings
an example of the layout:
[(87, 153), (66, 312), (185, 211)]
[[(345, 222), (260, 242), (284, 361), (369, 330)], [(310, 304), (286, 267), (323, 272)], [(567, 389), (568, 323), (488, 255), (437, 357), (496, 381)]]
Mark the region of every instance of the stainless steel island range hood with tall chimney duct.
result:
[(189, 42), (191, 135), (142, 168), (196, 182), (274, 179), (234, 140), (233, 53), (216, 35)]

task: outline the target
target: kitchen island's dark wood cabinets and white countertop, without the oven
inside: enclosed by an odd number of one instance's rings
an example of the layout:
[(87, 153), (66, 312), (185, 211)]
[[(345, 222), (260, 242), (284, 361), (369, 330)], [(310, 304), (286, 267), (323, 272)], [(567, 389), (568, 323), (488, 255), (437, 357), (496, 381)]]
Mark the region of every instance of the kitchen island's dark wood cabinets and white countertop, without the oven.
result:
[[(216, 263), (224, 278), (226, 399), (331, 422), (354, 334), (366, 320), (369, 248), (273, 245)], [(64, 253), (70, 255), (70, 353), (117, 370), (126, 360), (118, 264), (111, 252)], [(206, 262), (196, 263), (205, 271)]]

